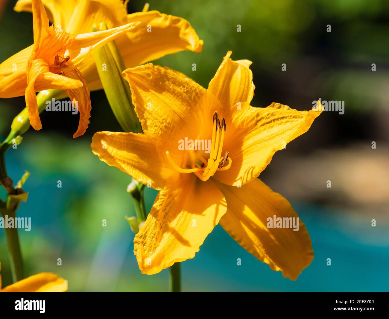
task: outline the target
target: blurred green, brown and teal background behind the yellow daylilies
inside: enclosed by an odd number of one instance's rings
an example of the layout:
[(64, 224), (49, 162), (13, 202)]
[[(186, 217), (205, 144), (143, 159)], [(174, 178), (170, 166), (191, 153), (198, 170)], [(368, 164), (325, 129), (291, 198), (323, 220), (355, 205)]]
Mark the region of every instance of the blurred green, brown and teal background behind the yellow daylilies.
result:
[[(32, 15), (14, 12), (15, 2), (2, 2), (0, 61), (33, 41)], [(307, 226), (315, 252), (312, 264), (292, 282), (217, 226), (196, 257), (182, 263), (183, 290), (387, 291), (389, 2), (149, 3), (150, 10), (186, 18), (204, 40), (202, 53), (181, 52), (154, 63), (207, 87), (223, 56), (232, 50), (234, 60), (253, 62), (253, 106), (275, 101), (308, 110), (318, 98), (345, 101), (343, 115), (322, 113), (306, 134), (277, 152), (261, 174), (291, 201)], [(131, 0), (128, 11), (141, 11), (143, 5)], [(167, 291), (167, 270), (153, 276), (138, 270), (134, 235), (124, 219), (135, 215), (126, 193), (130, 177), (98, 160), (89, 146), (96, 131), (121, 128), (102, 91), (92, 92), (91, 101), (91, 123), (84, 136), (72, 139), (78, 118), (70, 113), (43, 112), (43, 129), (30, 129), (21, 145), (7, 152), (13, 180), (25, 169), (31, 172), (24, 187), (28, 201), (18, 210), (19, 217), (32, 217), (32, 230), (20, 232), (26, 275), (53, 271), (68, 280), (69, 291)], [(24, 97), (0, 99), (2, 139), (24, 107)], [(156, 194), (146, 189), (148, 210)], [(107, 227), (102, 227), (102, 219)], [(371, 219), (377, 220), (376, 227), (371, 227)], [(62, 266), (57, 266), (58, 258)], [(237, 266), (237, 258), (242, 266)], [(3, 229), (0, 261), (5, 286), (11, 284), (11, 273)]]

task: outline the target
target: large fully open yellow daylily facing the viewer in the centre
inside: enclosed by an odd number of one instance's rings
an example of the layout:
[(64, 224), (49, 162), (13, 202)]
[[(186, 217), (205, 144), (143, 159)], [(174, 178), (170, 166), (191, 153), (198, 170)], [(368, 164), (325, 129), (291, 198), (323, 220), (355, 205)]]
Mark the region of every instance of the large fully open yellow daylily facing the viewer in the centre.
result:
[[(314, 257), (291, 204), (257, 177), (321, 111), (250, 106), (251, 61), (230, 56), (231, 51), (208, 89), (151, 63), (125, 70), (144, 133), (93, 136), (91, 148), (100, 160), (160, 190), (134, 238), (142, 273), (193, 258), (219, 222), (248, 252), (292, 280)], [(182, 150), (189, 139), (200, 142)], [(210, 147), (198, 147), (206, 141)], [(295, 218), (298, 231), (268, 228), (273, 215)]]

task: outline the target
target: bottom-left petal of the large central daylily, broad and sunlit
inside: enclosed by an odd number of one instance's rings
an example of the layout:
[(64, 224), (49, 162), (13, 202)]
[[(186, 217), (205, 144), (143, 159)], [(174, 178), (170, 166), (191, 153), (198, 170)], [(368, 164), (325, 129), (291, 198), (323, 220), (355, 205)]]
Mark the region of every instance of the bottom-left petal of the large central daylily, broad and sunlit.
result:
[(195, 257), (226, 212), (224, 196), (213, 182), (201, 182), (194, 174), (181, 175), (185, 176), (159, 192), (135, 235), (134, 254), (147, 275)]

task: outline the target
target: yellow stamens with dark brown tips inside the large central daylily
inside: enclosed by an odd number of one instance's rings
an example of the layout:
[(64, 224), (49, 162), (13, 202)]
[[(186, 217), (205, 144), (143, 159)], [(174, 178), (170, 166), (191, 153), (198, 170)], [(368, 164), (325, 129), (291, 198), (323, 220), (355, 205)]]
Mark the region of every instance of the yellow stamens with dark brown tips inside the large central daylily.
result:
[(232, 159), (228, 156), (228, 152), (222, 155), (224, 134), (226, 132), (226, 121), (217, 116), (217, 112), (212, 116), (212, 137), (211, 137), (211, 150), (209, 153), (209, 159), (204, 159), (201, 155), (191, 154), (191, 163), (188, 165), (191, 168), (179, 167), (166, 151), (166, 157), (172, 164), (173, 168), (179, 173), (194, 173), (200, 180), (206, 181), (213, 176), (216, 171), (226, 171), (231, 167)]

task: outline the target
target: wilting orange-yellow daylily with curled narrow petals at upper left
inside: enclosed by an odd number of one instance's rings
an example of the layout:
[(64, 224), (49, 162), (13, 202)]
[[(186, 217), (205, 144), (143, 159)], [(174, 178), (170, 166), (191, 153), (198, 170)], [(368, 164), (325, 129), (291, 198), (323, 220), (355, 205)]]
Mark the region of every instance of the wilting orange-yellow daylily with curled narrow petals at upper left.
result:
[[(49, 88), (66, 91), (76, 101), (80, 122), (74, 137), (84, 134), (89, 124), (89, 88), (78, 69), (96, 48), (130, 31), (139, 22), (106, 31), (71, 34), (49, 20), (40, 0), (32, 0), (34, 44), (0, 64), (0, 97), (25, 95), (28, 118), (35, 130), (42, 128), (35, 92)], [(91, 59), (89, 59), (91, 60)]]

